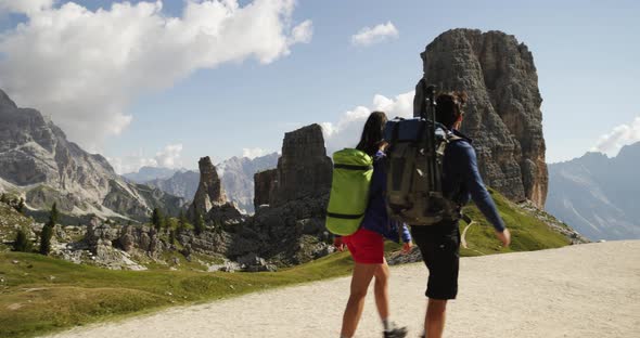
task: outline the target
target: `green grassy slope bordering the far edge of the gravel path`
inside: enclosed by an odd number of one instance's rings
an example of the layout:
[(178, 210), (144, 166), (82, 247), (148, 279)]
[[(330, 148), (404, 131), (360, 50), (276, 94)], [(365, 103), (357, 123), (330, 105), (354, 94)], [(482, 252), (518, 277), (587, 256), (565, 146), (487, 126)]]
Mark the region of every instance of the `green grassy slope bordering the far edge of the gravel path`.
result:
[[(538, 250), (568, 244), (562, 235), (494, 193), (512, 232), (501, 248), (492, 227), (475, 207), (462, 256)], [(466, 224), (461, 224), (461, 231)], [(387, 243), (387, 250), (397, 245)], [(12, 261), (20, 263), (14, 264)], [(182, 260), (183, 261), (183, 260)], [(108, 271), (38, 255), (0, 253), (0, 337), (28, 337), (174, 304), (232, 297), (256, 290), (346, 275), (348, 253), (336, 253), (276, 273), (203, 273), (152, 270)], [(2, 282), (3, 281), (3, 282)]]

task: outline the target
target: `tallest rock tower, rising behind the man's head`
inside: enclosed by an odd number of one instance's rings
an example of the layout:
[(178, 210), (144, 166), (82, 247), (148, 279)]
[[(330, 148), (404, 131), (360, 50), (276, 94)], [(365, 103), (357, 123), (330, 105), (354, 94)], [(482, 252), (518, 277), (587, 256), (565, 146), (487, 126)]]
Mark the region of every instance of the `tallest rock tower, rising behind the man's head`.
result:
[[(428, 83), (468, 93), (462, 132), (475, 141), (485, 182), (513, 200), (543, 208), (549, 178), (542, 99), (528, 48), (500, 31), (453, 29), (421, 56)], [(422, 88), (415, 90), (418, 102)]]

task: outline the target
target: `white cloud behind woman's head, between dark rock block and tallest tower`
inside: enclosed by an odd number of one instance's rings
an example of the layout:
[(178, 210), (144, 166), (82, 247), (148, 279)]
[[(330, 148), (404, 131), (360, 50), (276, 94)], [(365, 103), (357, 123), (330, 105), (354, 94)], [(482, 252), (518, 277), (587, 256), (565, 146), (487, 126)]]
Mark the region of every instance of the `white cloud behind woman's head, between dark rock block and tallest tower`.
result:
[(395, 99), (383, 95), (373, 96), (370, 106), (357, 106), (343, 114), (337, 122), (323, 122), (322, 132), (327, 143), (327, 153), (331, 154), (344, 147), (354, 147), (360, 139), (364, 121), (371, 112), (381, 110), (391, 119), (413, 116), (414, 91), (399, 94)]

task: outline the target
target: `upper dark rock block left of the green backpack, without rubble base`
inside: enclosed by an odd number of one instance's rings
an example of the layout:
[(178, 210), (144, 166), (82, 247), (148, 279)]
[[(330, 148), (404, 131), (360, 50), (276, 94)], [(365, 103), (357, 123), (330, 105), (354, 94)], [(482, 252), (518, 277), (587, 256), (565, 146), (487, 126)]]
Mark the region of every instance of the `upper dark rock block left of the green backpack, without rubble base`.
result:
[(328, 194), (332, 167), (319, 125), (285, 133), (269, 205), (277, 207), (290, 200)]

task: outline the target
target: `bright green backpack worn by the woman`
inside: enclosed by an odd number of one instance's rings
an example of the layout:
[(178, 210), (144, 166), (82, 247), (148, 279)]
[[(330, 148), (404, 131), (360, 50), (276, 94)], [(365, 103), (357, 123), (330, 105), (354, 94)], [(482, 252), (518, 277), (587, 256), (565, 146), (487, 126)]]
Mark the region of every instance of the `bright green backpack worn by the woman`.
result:
[(345, 148), (333, 153), (333, 179), (327, 208), (327, 229), (347, 236), (360, 227), (369, 204), (373, 159), (364, 152)]

